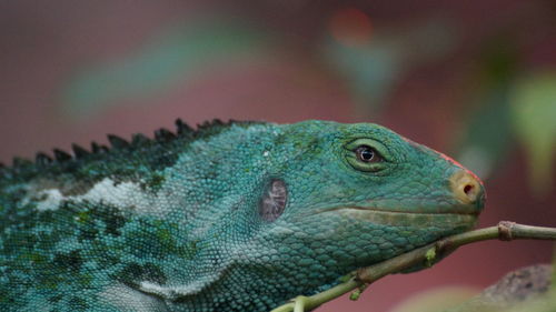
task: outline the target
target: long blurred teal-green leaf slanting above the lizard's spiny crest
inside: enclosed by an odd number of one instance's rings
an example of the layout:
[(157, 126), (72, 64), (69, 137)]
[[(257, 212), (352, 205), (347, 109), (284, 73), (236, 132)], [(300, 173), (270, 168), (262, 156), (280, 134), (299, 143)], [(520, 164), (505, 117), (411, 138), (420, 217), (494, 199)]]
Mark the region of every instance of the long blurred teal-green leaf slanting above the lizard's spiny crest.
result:
[(91, 64), (62, 91), (62, 110), (86, 118), (117, 103), (163, 94), (199, 72), (248, 58), (268, 33), (245, 22), (212, 18), (160, 30), (142, 48)]

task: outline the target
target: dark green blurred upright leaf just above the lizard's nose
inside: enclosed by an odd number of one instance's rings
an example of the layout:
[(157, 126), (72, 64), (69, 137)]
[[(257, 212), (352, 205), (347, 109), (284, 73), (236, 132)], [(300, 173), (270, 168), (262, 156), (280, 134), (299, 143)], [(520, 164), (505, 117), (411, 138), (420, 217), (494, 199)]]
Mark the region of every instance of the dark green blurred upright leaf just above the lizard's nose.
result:
[[(514, 143), (510, 117), (512, 81), (518, 71), (518, 54), (512, 37), (498, 34), (486, 41), (479, 53), (479, 72), (474, 79), (475, 108), (467, 117), (458, 160), (486, 179), (509, 154)], [(478, 82), (478, 83), (477, 83)]]

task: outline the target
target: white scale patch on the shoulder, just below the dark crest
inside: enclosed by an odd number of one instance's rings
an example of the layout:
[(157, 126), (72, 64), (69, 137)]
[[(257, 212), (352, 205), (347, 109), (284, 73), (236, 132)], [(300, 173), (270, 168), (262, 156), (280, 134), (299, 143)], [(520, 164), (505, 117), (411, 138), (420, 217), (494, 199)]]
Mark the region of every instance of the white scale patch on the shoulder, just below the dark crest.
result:
[(62, 201), (102, 202), (120, 210), (135, 210), (139, 213), (161, 213), (171, 207), (170, 197), (163, 192), (146, 192), (139, 183), (116, 183), (109, 178), (97, 182), (87, 193), (75, 197), (64, 197), (58, 189), (42, 190), (36, 198), (46, 197), (37, 203), (37, 210), (57, 210)]

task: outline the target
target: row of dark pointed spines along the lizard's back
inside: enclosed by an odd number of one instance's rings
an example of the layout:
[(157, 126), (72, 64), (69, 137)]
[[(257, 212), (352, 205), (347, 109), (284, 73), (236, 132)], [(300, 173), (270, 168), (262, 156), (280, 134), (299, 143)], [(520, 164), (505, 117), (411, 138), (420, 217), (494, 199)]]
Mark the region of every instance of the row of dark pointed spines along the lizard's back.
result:
[(181, 119), (177, 119), (176, 133), (165, 128), (160, 128), (155, 131), (153, 139), (150, 139), (141, 133), (136, 133), (131, 135), (131, 141), (127, 141), (115, 134), (108, 134), (107, 138), (108, 142), (110, 143), (110, 148), (102, 144), (98, 144), (97, 142), (93, 141), (91, 142), (90, 151), (73, 143), (71, 145), (72, 154), (59, 149), (53, 149), (53, 158), (48, 155), (47, 153), (38, 152), (34, 162), (22, 158), (13, 158), (13, 163), (11, 168), (4, 167), (3, 164), (0, 163), (0, 174), (6, 175), (10, 170), (17, 173), (20, 170), (24, 170), (33, 165), (43, 168), (54, 163), (63, 163), (72, 160), (87, 159), (91, 155), (109, 153), (111, 151), (133, 150), (151, 144), (172, 142), (176, 139), (180, 139), (182, 142), (189, 142), (197, 139), (217, 134), (221, 130), (232, 124), (248, 125), (254, 123), (258, 122), (252, 122), (252, 121), (238, 122), (235, 120), (222, 122), (219, 119), (215, 119), (212, 121), (206, 121), (201, 124), (198, 124), (197, 130), (195, 130), (193, 128), (185, 123)]

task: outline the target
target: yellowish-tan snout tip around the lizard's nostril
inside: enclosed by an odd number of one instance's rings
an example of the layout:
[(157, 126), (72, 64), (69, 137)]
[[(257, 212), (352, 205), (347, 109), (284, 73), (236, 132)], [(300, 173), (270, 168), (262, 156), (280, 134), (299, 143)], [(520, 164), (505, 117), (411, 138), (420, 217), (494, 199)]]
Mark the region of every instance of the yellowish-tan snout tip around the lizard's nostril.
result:
[(454, 197), (464, 204), (477, 205), (481, 209), (485, 202), (485, 188), (483, 182), (468, 170), (456, 171), (449, 178)]

